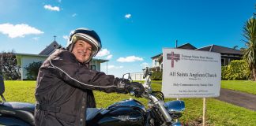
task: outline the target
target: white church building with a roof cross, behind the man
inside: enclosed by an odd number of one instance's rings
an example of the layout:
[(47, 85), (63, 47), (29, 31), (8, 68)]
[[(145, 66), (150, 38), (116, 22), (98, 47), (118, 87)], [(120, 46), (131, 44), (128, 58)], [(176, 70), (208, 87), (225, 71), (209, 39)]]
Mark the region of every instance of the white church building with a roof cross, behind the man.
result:
[[(52, 42), (49, 46), (47, 46), (44, 50), (40, 52), (40, 54), (16, 54), (17, 65), (21, 66), (21, 80), (26, 80), (26, 67), (33, 62), (45, 61), (47, 57), (52, 54), (56, 49), (62, 48), (61, 45), (58, 45), (56, 41)], [(92, 58), (90, 61), (91, 69), (100, 71), (100, 64), (104, 63), (108, 60), (104, 59), (96, 59)]]

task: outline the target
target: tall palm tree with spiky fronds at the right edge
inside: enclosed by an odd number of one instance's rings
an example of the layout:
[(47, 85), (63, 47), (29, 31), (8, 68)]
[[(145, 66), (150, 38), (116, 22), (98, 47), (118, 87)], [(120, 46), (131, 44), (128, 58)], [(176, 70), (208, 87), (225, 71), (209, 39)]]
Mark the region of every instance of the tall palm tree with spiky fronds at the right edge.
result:
[(246, 38), (246, 48), (243, 50), (243, 59), (247, 61), (251, 79), (256, 80), (256, 18), (251, 17), (243, 27), (243, 36)]

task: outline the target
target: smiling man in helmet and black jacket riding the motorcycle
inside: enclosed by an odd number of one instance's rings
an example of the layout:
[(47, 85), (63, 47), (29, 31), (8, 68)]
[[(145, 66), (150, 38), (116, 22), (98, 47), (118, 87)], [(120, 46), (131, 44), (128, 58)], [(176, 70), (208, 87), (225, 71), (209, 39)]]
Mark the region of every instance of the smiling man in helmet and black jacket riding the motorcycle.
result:
[(140, 83), (115, 78), (88, 68), (101, 48), (95, 31), (78, 28), (71, 32), (66, 50), (55, 50), (43, 65), (36, 81), (36, 125), (85, 125), (86, 108), (95, 108), (92, 90), (136, 92)]

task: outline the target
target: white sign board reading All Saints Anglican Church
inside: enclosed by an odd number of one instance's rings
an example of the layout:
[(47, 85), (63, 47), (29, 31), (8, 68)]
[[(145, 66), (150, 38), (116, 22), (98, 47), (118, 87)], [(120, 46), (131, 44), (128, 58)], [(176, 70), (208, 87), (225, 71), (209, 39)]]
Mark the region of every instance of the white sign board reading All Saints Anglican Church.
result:
[(163, 85), (166, 98), (204, 98), (220, 95), (220, 54), (164, 48)]

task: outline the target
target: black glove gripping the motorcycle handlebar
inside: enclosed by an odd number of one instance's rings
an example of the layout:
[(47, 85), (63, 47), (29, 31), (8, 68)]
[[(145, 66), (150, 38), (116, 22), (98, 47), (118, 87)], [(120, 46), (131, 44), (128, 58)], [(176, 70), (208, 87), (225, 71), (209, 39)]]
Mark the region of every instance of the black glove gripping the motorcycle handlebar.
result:
[(128, 92), (134, 91), (135, 97), (141, 97), (141, 95), (144, 93), (145, 88), (142, 86), (141, 83), (132, 82), (126, 84), (126, 90)]

